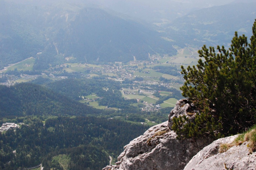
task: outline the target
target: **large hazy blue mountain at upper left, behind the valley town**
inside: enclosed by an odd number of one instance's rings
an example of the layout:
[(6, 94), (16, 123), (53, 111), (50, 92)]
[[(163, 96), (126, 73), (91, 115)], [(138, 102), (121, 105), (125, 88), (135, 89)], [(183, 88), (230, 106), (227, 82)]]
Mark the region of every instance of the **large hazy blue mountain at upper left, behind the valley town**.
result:
[(175, 54), (172, 43), (134, 21), (99, 8), (0, 2), (0, 68), (38, 52), (35, 68), (66, 62), (147, 60), (148, 54)]

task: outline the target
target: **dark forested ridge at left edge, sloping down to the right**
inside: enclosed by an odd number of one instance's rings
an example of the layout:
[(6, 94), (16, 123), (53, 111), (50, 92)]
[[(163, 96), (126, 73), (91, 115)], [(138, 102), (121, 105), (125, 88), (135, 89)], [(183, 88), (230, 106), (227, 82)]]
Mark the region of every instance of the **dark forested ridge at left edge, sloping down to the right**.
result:
[(79, 103), (39, 85), (0, 86), (0, 116), (85, 115), (103, 111)]

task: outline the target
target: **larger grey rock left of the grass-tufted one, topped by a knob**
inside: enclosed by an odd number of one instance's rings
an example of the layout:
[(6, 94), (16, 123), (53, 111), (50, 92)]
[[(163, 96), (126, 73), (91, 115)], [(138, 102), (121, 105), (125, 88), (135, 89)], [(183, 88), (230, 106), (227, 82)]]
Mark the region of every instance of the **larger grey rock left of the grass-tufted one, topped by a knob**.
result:
[(118, 156), (115, 165), (103, 170), (166, 170), (183, 169), (189, 160), (197, 154), (208, 141), (176, 139), (176, 133), (170, 129), (173, 116), (195, 112), (193, 104), (179, 100), (169, 115), (169, 121), (148, 129), (143, 135), (131, 141)]

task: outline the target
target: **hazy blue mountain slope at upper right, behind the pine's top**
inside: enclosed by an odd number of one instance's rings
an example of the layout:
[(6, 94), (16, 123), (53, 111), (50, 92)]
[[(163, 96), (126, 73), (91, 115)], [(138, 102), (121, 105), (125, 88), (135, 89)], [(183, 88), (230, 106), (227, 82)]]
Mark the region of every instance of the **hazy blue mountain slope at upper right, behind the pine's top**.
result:
[(207, 46), (230, 43), (234, 32), (251, 36), (251, 25), (256, 18), (255, 1), (235, 1), (227, 5), (203, 8), (175, 19), (166, 28), (167, 34), (181, 43)]

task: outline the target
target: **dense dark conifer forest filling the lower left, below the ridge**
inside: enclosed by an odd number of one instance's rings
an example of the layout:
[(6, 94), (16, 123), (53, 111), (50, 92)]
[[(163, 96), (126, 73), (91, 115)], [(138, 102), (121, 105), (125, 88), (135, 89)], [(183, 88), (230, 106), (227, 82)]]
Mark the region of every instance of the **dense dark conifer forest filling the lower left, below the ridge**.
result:
[(17, 117), (26, 124), (0, 133), (0, 169), (23, 169), (40, 163), (44, 169), (62, 169), (52, 161), (58, 155), (67, 156), (69, 169), (101, 169), (109, 163), (109, 155), (116, 159), (123, 146), (149, 128), (95, 116), (44, 118)]

